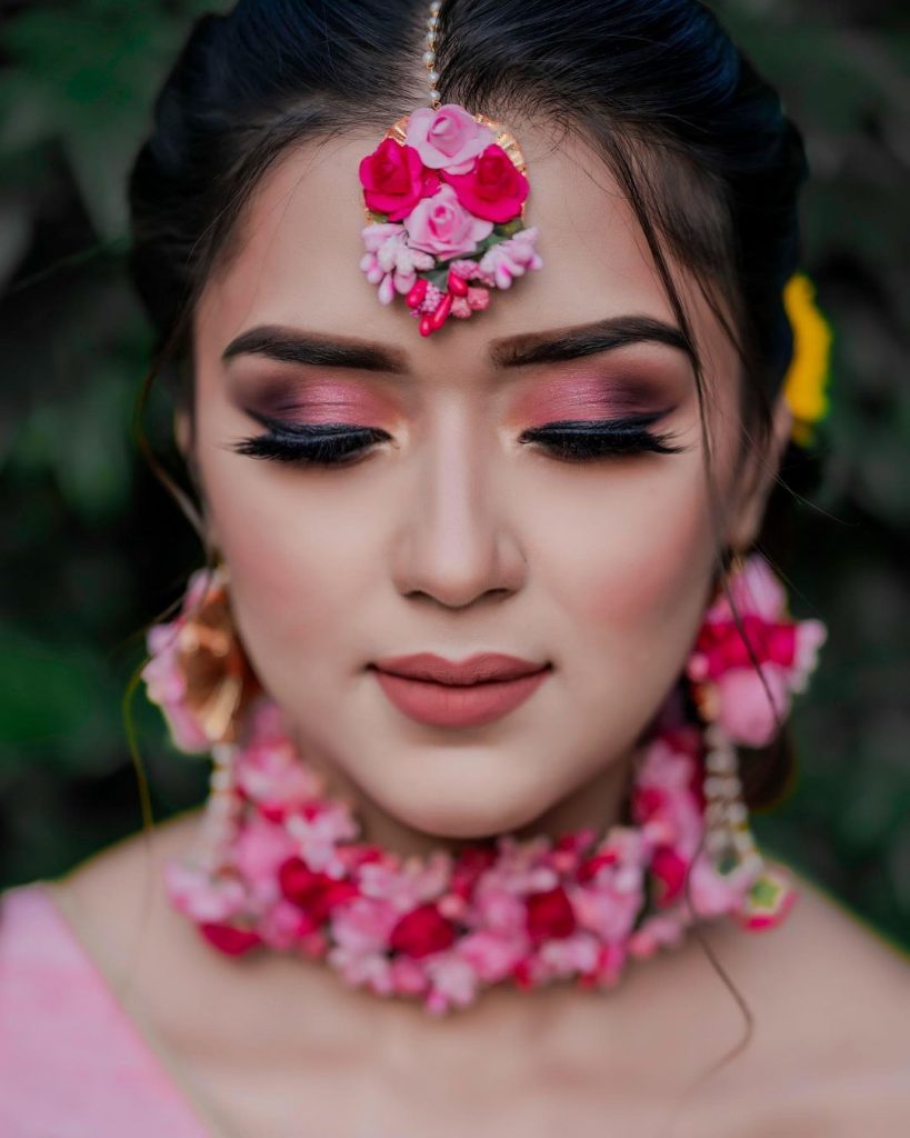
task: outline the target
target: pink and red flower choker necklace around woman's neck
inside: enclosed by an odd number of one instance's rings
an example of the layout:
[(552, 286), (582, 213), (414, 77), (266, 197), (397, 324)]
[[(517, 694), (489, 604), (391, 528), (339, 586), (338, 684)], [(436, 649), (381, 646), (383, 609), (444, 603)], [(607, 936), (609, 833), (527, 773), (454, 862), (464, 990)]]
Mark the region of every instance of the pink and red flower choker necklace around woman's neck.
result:
[(589, 828), (505, 834), (402, 858), (357, 840), (350, 807), (325, 794), (259, 696), (242, 741), (213, 748), (199, 847), (168, 861), (168, 896), (222, 953), (324, 959), (351, 986), (420, 998), (437, 1015), (491, 984), (611, 988), (629, 957), (678, 945), (697, 918), (768, 927), (797, 896), (747, 830), (733, 853), (702, 848), (704, 772), (735, 781), (735, 760), (718, 724), (663, 721), (634, 774), (628, 822), (599, 840)]

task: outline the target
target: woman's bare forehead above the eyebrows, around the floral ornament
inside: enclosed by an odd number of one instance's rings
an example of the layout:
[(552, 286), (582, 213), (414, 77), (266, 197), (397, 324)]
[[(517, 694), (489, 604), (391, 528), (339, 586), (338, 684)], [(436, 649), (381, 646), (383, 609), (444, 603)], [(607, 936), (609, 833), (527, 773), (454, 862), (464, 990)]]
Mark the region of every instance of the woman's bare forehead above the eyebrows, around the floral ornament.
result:
[[(508, 124), (506, 124), (508, 125)], [(361, 159), (381, 139), (339, 137), (290, 148), (257, 187), (231, 256), (197, 310), (197, 345), (221, 352), (259, 324), (355, 336), (438, 364), (479, 361), (491, 339), (619, 315), (676, 319), (631, 206), (603, 160), (574, 135), (516, 130), (528, 164), (524, 223), (544, 267), (494, 290), (490, 307), (423, 338), (400, 298), (380, 305), (359, 269), (366, 224)], [(675, 267), (700, 351), (729, 351), (685, 271)]]

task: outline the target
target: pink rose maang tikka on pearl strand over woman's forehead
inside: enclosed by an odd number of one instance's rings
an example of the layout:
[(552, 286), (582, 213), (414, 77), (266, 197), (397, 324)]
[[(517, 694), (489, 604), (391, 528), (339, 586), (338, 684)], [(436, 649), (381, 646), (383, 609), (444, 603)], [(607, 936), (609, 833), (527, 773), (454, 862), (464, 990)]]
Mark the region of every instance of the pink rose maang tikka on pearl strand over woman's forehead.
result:
[(405, 298), (421, 336), (449, 316), (466, 320), (489, 305), (493, 289), (543, 266), (537, 229), (523, 223), (529, 184), (516, 139), (458, 104), (440, 106), (440, 8), (433, 0), (427, 19), (430, 106), (399, 118), (359, 165), (361, 269), (380, 304)]

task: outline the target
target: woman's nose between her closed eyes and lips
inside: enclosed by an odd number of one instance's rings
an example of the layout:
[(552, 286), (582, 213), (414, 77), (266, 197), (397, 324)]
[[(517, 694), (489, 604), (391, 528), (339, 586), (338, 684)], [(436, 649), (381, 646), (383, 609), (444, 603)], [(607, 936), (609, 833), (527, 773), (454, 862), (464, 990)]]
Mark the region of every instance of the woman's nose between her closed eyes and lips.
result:
[[(521, 588), (527, 559), (515, 533), (520, 511), (508, 501), (495, 446), (469, 423), (440, 428), (414, 464), (403, 502), (396, 586), (460, 609), (486, 594)], [(497, 486), (498, 483), (498, 486)]]

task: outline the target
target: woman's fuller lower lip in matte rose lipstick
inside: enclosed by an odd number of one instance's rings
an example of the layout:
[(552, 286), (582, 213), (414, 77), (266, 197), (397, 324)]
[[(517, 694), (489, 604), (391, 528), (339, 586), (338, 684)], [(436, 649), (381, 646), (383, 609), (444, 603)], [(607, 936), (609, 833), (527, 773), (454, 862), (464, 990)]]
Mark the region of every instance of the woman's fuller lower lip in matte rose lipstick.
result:
[(518, 679), (456, 686), (373, 669), (382, 691), (398, 710), (431, 727), (482, 727), (493, 723), (530, 699), (551, 670), (544, 668)]

